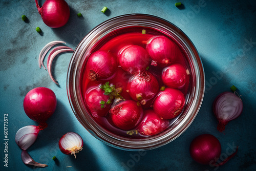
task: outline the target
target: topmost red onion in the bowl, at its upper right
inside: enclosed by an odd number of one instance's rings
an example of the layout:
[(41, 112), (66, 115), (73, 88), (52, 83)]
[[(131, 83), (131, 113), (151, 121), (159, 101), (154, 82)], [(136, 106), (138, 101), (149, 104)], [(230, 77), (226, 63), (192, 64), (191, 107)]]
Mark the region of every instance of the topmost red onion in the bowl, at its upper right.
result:
[(179, 51), (178, 46), (165, 36), (154, 36), (147, 42), (146, 50), (153, 59), (152, 65), (168, 66), (174, 62)]

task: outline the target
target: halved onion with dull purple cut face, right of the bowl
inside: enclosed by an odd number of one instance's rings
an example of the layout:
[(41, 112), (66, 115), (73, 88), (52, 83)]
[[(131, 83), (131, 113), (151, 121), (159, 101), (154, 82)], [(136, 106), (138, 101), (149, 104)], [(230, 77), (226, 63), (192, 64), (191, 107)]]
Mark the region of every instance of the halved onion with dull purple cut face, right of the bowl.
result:
[(216, 97), (213, 110), (219, 121), (218, 131), (225, 130), (225, 126), (231, 120), (238, 118), (243, 111), (243, 102), (240, 97), (231, 92), (223, 92)]

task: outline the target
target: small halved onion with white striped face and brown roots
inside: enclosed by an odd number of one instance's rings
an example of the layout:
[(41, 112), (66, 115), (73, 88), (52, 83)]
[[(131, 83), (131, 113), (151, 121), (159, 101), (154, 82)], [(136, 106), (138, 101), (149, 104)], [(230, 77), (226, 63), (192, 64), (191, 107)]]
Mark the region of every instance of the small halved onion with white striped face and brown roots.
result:
[(59, 149), (63, 154), (74, 155), (82, 150), (83, 140), (80, 135), (74, 132), (69, 132), (63, 135), (59, 140)]

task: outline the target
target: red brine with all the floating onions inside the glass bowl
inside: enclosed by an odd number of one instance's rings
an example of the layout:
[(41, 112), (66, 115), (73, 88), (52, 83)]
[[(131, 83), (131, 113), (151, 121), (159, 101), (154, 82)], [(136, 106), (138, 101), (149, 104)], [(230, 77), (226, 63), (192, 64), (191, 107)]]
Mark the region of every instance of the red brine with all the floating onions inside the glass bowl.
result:
[[(91, 117), (106, 131), (129, 138), (172, 126), (189, 93), (185, 54), (173, 37), (152, 28), (106, 34), (92, 47), (80, 83)], [(106, 82), (115, 88), (110, 94), (103, 89)]]

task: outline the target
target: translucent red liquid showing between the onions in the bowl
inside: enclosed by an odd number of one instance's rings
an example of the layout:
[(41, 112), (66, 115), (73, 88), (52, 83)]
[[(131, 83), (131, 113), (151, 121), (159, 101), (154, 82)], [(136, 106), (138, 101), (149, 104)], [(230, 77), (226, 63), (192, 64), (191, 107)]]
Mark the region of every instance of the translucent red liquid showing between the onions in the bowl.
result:
[[(142, 30), (146, 30), (146, 34), (142, 34)], [(151, 28), (143, 28), (143, 27), (127, 27), (127, 28), (121, 28), (118, 31), (111, 32), (109, 34), (106, 34), (104, 37), (102, 37), (97, 43), (94, 45), (94, 47), (91, 50), (91, 53), (97, 51), (97, 50), (106, 50), (112, 52), (116, 57), (118, 56), (119, 51), (122, 49), (122, 47), (127, 46), (127, 45), (138, 45), (143, 48), (146, 48), (146, 44), (150, 38), (156, 35), (164, 35), (164, 33), (161, 33), (160, 31), (157, 31), (155, 29)], [(185, 60), (185, 52), (183, 52), (183, 49), (179, 46), (178, 42), (176, 42), (175, 39), (172, 37), (166, 36), (172, 41), (174, 41), (179, 49), (180, 52), (176, 57), (175, 63), (180, 63), (185, 69), (188, 69), (187, 62)], [(136, 64), (135, 64), (136, 65)], [(84, 64), (84, 67), (86, 67), (86, 64)], [(150, 68), (148, 69), (149, 72), (151, 72), (158, 80), (159, 83), (159, 88), (164, 86), (162, 80), (161, 80), (161, 74), (163, 68), (160, 68), (158, 66), (149, 66)], [(123, 90), (120, 93), (120, 95), (125, 99), (125, 100), (132, 100), (130, 97), (129, 93), (126, 92), (126, 85), (129, 79), (132, 77), (130, 73), (127, 73), (126, 71), (122, 70), (122, 68), (119, 66), (115, 77), (110, 79), (110, 80), (95, 80), (91, 81), (87, 78), (86, 74), (82, 74), (82, 81), (81, 81), (81, 90), (82, 90), (82, 96), (83, 98), (86, 97), (86, 94), (88, 93), (89, 90), (100, 87), (101, 84), (104, 84), (105, 82), (110, 82), (110, 84), (115, 84), (116, 88), (121, 87)], [(191, 77), (189, 78), (191, 79)], [(187, 81), (184, 85), (183, 88), (180, 88), (179, 90), (182, 91), (182, 93), (185, 95), (188, 93), (189, 89), (189, 82)], [(153, 109), (152, 108), (152, 103), (154, 99), (148, 100), (145, 105), (142, 105), (142, 109), (148, 110), (148, 109)], [(87, 104), (86, 104), (87, 106)], [(88, 108), (88, 106), (87, 106)], [(90, 111), (90, 110), (88, 110)], [(182, 115), (182, 114), (180, 114)], [(93, 117), (93, 116), (92, 116)], [(123, 131), (118, 129), (112, 122), (110, 114), (108, 113), (105, 117), (93, 117), (105, 130), (112, 132), (113, 134), (117, 134), (120, 136), (124, 137), (130, 137), (130, 138), (143, 138), (145, 135), (141, 134), (133, 134), (132, 136), (127, 134), (127, 131)], [(143, 118), (143, 117), (142, 117)], [(143, 119), (141, 120), (143, 121)], [(170, 124), (172, 123), (172, 120), (170, 120)], [(138, 124), (139, 125), (139, 124)], [(137, 126), (138, 126), (137, 125)], [(171, 126), (171, 125), (170, 125)], [(133, 130), (137, 130), (138, 127), (135, 127)]]

